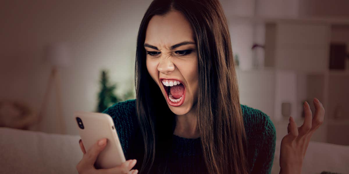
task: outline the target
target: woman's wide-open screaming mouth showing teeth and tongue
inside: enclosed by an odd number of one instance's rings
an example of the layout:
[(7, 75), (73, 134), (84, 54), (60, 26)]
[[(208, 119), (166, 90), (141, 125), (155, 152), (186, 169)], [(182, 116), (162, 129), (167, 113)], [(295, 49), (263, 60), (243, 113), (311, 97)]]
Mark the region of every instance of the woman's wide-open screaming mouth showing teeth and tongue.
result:
[(185, 99), (185, 86), (178, 79), (161, 78), (160, 82), (163, 84), (166, 100), (171, 106), (180, 106)]

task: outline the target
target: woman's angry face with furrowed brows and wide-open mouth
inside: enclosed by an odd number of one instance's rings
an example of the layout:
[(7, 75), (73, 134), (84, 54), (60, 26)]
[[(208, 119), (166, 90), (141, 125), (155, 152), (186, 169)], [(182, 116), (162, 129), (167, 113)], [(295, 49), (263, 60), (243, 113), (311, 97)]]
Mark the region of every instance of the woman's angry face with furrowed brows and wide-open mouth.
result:
[(176, 10), (153, 16), (144, 48), (148, 72), (171, 111), (176, 115), (191, 111), (198, 100), (198, 53), (191, 24)]

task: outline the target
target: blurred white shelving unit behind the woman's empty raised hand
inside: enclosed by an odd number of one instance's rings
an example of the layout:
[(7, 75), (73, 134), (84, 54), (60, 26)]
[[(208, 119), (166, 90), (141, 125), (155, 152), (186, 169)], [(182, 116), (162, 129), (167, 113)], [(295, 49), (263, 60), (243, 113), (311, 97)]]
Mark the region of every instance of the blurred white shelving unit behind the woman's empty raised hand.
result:
[[(281, 139), (287, 134), (288, 124), (288, 118), (283, 118), (281, 114), (281, 103), (292, 104), (291, 116), (300, 126), (303, 123), (303, 101), (308, 101), (314, 113), (312, 100), (316, 97), (323, 103), (326, 115), (324, 124), (312, 136), (312, 141), (349, 145), (349, 139), (343, 138), (349, 137), (349, 70), (329, 70), (331, 42), (346, 42), (349, 51), (349, 20), (271, 18), (252, 14), (228, 16), (228, 23), (231, 33), (235, 32), (231, 34), (233, 51), (238, 50), (234, 50), (235, 38), (244, 46), (265, 41), (262, 43), (265, 44), (265, 54), (262, 55), (265, 67), (253, 69), (243, 62), (236, 70), (240, 102), (269, 115), (276, 127), (277, 139)], [(337, 38), (334, 38), (334, 26), (344, 28)], [(248, 27), (252, 29), (246, 29)], [(264, 36), (260, 36), (263, 33), (260, 30), (265, 31)], [(243, 32), (250, 32), (252, 37)], [(246, 40), (243, 36), (237, 37), (236, 33), (245, 34)], [(338, 35), (343, 37), (338, 38)], [(243, 52), (239, 55), (240, 59), (248, 60), (245, 64), (256, 56), (248, 50), (238, 51)], [(341, 116), (336, 119), (338, 105), (341, 106)], [(337, 136), (339, 134), (342, 136)]]

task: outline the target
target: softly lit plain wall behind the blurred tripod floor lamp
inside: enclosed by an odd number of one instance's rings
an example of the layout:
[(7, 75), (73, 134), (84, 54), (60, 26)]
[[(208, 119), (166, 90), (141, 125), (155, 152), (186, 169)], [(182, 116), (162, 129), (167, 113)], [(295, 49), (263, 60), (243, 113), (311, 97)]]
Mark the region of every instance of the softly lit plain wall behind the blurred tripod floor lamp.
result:
[[(50, 75), (47, 44), (65, 41), (72, 65), (60, 69), (63, 116), (77, 134), (73, 113), (95, 111), (99, 76), (110, 71), (119, 91), (133, 88), (135, 43), (150, 0), (5, 1), (0, 7), (0, 100), (21, 100), (39, 111)], [(126, 74), (126, 75), (125, 75)], [(41, 129), (58, 132), (54, 95)]]

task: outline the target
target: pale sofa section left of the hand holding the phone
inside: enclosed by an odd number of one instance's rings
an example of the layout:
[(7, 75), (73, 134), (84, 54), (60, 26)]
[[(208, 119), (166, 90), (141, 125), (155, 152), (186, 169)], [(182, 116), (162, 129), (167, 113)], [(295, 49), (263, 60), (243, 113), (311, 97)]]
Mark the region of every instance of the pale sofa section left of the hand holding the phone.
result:
[(0, 173), (77, 173), (80, 136), (0, 127)]

